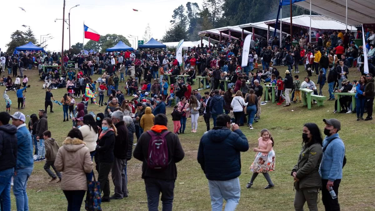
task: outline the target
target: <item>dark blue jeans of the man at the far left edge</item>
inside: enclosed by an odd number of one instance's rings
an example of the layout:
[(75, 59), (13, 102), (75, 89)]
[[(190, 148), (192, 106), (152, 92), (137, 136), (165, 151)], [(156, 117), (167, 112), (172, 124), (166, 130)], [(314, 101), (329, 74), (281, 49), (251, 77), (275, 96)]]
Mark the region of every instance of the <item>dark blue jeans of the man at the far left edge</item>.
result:
[(0, 205), (1, 210), (10, 211), (10, 181), (14, 167), (0, 171)]

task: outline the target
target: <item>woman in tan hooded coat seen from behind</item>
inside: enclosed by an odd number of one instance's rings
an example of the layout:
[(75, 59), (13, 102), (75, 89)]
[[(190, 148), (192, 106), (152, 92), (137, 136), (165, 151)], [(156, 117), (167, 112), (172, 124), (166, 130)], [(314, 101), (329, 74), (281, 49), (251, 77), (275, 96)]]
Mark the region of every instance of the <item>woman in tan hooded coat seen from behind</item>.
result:
[(92, 172), (93, 162), (78, 128), (73, 128), (68, 133), (63, 146), (58, 149), (55, 167), (63, 172), (61, 189), (68, 200), (68, 211), (80, 210), (87, 191), (86, 173)]

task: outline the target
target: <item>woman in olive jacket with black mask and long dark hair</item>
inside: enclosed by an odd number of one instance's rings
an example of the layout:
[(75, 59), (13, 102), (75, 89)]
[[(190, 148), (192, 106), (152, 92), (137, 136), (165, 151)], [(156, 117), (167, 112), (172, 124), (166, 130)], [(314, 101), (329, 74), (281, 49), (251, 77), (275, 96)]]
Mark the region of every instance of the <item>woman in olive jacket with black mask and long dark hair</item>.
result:
[(294, 179), (294, 209), (302, 210), (307, 202), (310, 210), (318, 210), (317, 200), (322, 180), (319, 166), (323, 156), (322, 135), (315, 123), (307, 123), (302, 131), (302, 150), (291, 176)]

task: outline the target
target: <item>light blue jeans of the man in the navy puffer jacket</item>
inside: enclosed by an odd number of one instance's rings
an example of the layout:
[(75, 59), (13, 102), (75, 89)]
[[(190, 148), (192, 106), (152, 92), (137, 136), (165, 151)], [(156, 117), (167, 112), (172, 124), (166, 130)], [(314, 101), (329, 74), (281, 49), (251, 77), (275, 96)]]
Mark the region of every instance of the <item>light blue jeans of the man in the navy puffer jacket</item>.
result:
[(240, 179), (226, 181), (208, 180), (212, 211), (223, 210), (223, 199), (226, 200), (224, 210), (235, 210), (240, 200)]

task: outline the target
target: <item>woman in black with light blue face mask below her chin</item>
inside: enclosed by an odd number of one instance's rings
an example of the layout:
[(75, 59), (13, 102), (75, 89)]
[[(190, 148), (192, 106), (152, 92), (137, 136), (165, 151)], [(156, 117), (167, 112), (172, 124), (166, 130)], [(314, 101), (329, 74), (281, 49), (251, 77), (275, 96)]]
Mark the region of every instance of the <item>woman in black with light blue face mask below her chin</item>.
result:
[(115, 146), (115, 136), (117, 130), (111, 118), (105, 118), (102, 121), (102, 132), (99, 135), (99, 144), (96, 145), (99, 161), (99, 175), (101, 191), (103, 191), (102, 202), (110, 202), (110, 181), (108, 175), (112, 169), (114, 161), (113, 149)]

